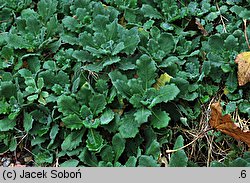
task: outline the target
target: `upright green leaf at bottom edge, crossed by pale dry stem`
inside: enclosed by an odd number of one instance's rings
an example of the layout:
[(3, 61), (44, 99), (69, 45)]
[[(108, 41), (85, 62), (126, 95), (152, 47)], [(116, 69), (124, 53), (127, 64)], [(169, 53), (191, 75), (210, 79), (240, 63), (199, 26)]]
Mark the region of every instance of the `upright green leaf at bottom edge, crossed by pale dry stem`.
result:
[[(183, 146), (184, 146), (184, 139), (180, 135), (177, 137), (177, 139), (175, 141), (174, 150), (181, 148)], [(186, 155), (185, 151), (183, 149), (181, 149), (181, 150), (178, 150), (177, 152), (174, 152), (171, 155), (170, 161), (169, 161), (169, 166), (170, 167), (186, 167), (187, 161), (188, 161), (187, 155)]]

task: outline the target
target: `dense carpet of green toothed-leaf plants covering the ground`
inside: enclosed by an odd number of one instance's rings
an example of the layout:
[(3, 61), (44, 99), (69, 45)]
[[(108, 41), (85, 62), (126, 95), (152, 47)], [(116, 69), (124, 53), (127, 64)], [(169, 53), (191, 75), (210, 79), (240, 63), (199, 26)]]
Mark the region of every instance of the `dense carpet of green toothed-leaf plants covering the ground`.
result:
[(0, 153), (35, 166), (250, 166), (247, 146), (208, 123), (215, 101), (249, 122), (234, 61), (249, 17), (243, 0), (0, 0)]

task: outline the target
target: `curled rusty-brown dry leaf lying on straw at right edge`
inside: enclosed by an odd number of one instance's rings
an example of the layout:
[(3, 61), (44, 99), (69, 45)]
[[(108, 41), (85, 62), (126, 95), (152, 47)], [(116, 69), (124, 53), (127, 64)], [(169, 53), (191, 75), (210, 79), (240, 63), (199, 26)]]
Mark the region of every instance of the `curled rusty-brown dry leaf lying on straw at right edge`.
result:
[(209, 123), (212, 128), (215, 128), (236, 140), (245, 142), (248, 147), (250, 147), (250, 131), (243, 131), (236, 126), (231, 120), (229, 114), (222, 116), (222, 107), (219, 102), (211, 105), (211, 118)]

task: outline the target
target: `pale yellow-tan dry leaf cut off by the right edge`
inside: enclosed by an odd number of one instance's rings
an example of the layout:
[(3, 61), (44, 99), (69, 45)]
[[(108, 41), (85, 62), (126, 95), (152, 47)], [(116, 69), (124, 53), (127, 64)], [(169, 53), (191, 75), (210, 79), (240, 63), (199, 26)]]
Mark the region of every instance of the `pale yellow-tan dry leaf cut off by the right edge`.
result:
[(240, 53), (235, 62), (238, 64), (239, 86), (243, 86), (250, 82), (250, 52)]

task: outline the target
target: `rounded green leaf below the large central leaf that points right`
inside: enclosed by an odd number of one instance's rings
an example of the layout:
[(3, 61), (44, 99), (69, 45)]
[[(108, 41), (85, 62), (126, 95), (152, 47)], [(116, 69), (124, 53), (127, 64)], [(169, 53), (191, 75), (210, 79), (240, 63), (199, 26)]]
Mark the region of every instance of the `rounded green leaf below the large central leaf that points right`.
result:
[(157, 129), (165, 128), (168, 126), (170, 119), (166, 111), (156, 110), (151, 117), (151, 125)]

